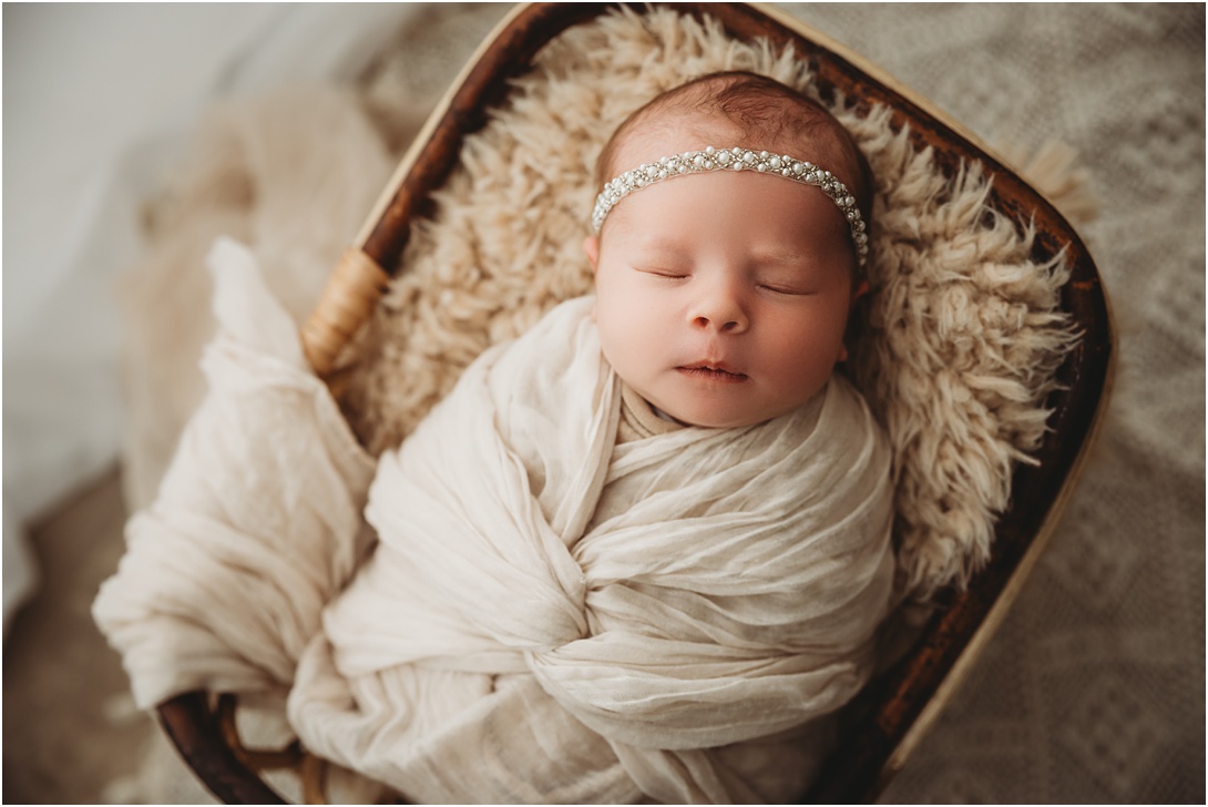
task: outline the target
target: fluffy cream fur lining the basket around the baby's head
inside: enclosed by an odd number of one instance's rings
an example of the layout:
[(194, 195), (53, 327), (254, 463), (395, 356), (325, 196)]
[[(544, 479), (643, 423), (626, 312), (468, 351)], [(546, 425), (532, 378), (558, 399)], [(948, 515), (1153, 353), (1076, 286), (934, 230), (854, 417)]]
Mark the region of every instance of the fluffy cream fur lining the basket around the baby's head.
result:
[[(551, 42), (506, 106), (465, 144), (400, 279), (358, 344), (345, 393), (373, 451), (402, 440), (488, 344), (591, 290), (580, 249), (609, 133), (654, 94), (745, 69), (812, 93), (791, 52), (737, 43), (668, 11), (616, 13)], [(871, 303), (850, 375), (895, 451), (901, 567), (922, 593), (963, 584), (989, 552), (1014, 463), (1045, 429), (1052, 371), (1071, 343), (1057, 263), (987, 207), (992, 178), (945, 176), (889, 124), (835, 109), (876, 175)]]

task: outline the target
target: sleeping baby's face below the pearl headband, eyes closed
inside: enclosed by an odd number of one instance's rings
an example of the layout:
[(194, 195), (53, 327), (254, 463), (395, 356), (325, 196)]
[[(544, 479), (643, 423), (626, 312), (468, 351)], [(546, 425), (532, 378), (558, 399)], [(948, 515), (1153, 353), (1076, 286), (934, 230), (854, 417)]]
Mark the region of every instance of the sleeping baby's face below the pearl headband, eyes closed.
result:
[(784, 414), (847, 355), (855, 259), (815, 187), (754, 172), (656, 182), (622, 199), (585, 250), (605, 358), (678, 420)]

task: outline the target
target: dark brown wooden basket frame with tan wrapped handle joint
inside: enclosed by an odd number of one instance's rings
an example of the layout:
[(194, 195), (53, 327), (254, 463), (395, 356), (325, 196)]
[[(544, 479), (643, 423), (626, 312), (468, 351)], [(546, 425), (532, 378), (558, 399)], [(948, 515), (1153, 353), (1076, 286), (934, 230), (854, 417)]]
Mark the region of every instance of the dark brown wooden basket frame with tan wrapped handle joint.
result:
[[(1105, 408), (1114, 337), (1099, 275), (1070, 225), (1023, 179), (988, 153), (974, 137), (947, 121), (910, 91), (841, 46), (769, 8), (744, 5), (668, 4), (708, 13), (739, 40), (766, 37), (792, 45), (811, 60), (825, 93), (842, 92), (859, 105), (882, 103), (894, 126), (908, 124), (918, 147), (933, 146), (946, 173), (963, 161), (980, 161), (995, 174), (991, 204), (1034, 223), (1036, 261), (1065, 250), (1070, 279), (1062, 308), (1081, 333), (1058, 371), (1059, 390), (1049, 401), (1049, 432), (1039, 464), (1021, 466), (1012, 480), (1012, 504), (1001, 516), (988, 567), (964, 592), (947, 592), (922, 639), (849, 707), (852, 720), (823, 777), (803, 795), (808, 802), (870, 801), (901, 768), (923, 732), (951, 698), (986, 645), (1039, 557), (1079, 475)], [(303, 329), (307, 355), (320, 375), (331, 371), (344, 344), (373, 309), (389, 283), (382, 267), (397, 267), (410, 222), (458, 161), (463, 139), (481, 128), (486, 110), (507, 91), (547, 41), (608, 10), (605, 4), (536, 4), (509, 16), (483, 43), (403, 158), (377, 209)], [(638, 8), (641, 11), (641, 8)], [(190, 692), (159, 707), (161, 721), (204, 784), (232, 803), (281, 803), (261, 777), (268, 767), (292, 767), (308, 801), (321, 797), (320, 771), (300, 748), (255, 753), (234, 731), (232, 696)]]

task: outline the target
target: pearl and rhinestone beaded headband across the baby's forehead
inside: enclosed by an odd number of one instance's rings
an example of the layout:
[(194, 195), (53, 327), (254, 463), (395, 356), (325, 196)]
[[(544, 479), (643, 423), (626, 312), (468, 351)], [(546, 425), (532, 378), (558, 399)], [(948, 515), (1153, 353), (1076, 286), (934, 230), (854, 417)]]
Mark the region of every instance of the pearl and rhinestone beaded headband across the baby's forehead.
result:
[(701, 174), (710, 170), (757, 170), (765, 174), (778, 174), (802, 185), (819, 187), (847, 217), (848, 226), (852, 228), (852, 242), (855, 245), (855, 257), (860, 268), (864, 268), (869, 257), (869, 236), (865, 232), (860, 208), (848, 193), (847, 186), (829, 170), (823, 170), (813, 163), (788, 155), (756, 152), (750, 149), (709, 146), (704, 151), (685, 151), (674, 157), (662, 157), (657, 162), (644, 163), (633, 170), (625, 172), (611, 182), (605, 184), (604, 190), (596, 197), (592, 230), (599, 232), (600, 227), (604, 226), (604, 217), (616, 207), (617, 202), (638, 188), (672, 176)]

